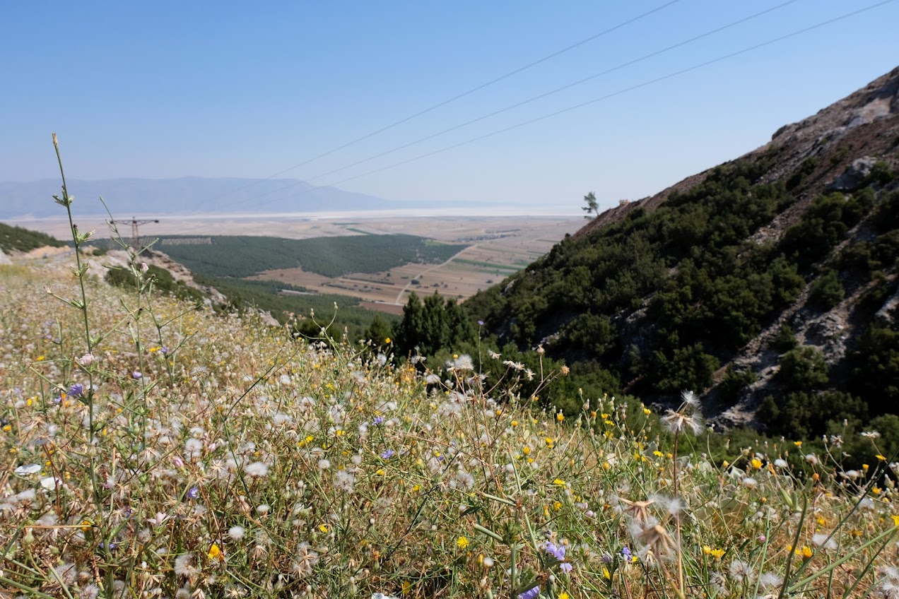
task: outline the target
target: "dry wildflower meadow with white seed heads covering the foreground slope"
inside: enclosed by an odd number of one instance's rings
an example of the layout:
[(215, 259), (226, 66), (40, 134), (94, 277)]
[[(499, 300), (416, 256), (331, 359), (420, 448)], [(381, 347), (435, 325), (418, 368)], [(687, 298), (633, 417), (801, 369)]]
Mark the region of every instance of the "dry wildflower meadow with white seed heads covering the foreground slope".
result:
[(535, 410), (519, 365), (476, 372), (495, 348), (296, 337), (155, 293), (133, 251), (112, 287), (72, 230), (0, 267), (0, 595), (899, 596), (891, 457), (728, 463), (691, 392)]

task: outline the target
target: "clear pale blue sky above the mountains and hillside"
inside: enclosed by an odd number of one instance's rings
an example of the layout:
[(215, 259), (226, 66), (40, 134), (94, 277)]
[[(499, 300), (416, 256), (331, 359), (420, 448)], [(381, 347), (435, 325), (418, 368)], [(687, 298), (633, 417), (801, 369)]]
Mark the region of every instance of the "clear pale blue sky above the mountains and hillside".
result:
[(899, 65), (894, 1), (643, 85), (877, 0), (669, 1), (3, 3), (0, 181), (56, 177), (51, 131), (71, 178), (267, 177), (658, 8), (281, 175), (422, 206), (576, 211), (590, 190), (611, 206), (733, 159)]

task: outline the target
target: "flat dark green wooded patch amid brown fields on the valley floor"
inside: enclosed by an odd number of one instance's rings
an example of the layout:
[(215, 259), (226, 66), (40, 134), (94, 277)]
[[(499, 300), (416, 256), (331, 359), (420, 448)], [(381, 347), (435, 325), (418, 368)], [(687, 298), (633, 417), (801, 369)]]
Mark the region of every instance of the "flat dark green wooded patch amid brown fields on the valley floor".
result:
[(409, 262), (449, 260), (466, 247), (403, 234), (313, 239), (214, 236), (209, 244), (181, 244), (178, 239), (162, 237), (156, 249), (165, 251), (194, 272), (236, 278), (297, 267), (325, 277), (382, 272)]

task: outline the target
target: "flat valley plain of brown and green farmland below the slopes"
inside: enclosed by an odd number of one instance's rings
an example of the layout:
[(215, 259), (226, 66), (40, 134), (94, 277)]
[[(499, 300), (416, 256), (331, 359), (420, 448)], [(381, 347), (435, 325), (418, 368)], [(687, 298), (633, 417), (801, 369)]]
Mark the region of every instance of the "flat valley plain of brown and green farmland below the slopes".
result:
[[(218, 251), (238, 250), (236, 237), (271, 237), (286, 240), (307, 240), (308, 247), (297, 244), (290, 252), (281, 252), (277, 246), (293, 246), (293, 242), (262, 242), (276, 245), (268, 253), (258, 251), (249, 259), (235, 260), (231, 272), (215, 267), (216, 276), (248, 277), (273, 280), (306, 288), (309, 292), (346, 295), (359, 298), (364, 307), (387, 313), (401, 313), (409, 293), (419, 295), (439, 291), (441, 295), (463, 300), (478, 289), (499, 283), (528, 264), (537, 260), (560, 241), (565, 233), (574, 233), (584, 223), (578, 216), (371, 216), (348, 215), (334, 218), (318, 216), (170, 216), (158, 224), (141, 228), (142, 242), (156, 237), (180, 235), (180, 244), (162, 240), (155, 248), (170, 253), (175, 260), (183, 260), (193, 268), (200, 268), (201, 260), (214, 246), (208, 240), (223, 236), (235, 236), (230, 245), (215, 248)], [(27, 223), (15, 223), (38, 231), (67, 235), (67, 224), (58, 219), (38, 219)], [(102, 219), (97, 223), (81, 225), (95, 228), (98, 237), (105, 232)], [(428, 254), (428, 262), (408, 262), (395, 259), (390, 268), (371, 272), (373, 263), (367, 253), (376, 241), (375, 236), (402, 236), (408, 247)], [(409, 239), (422, 238), (423, 243)], [(317, 238), (317, 239), (314, 239)], [(326, 241), (325, 239), (326, 238)], [(340, 238), (340, 239), (336, 239)], [(386, 238), (385, 238), (386, 239)], [(173, 240), (174, 241), (174, 240)], [(260, 240), (261, 242), (261, 240)], [(307, 251), (332, 253), (339, 258), (341, 267), (303, 269), (303, 260), (297, 255)], [(299, 252), (297, 254), (296, 252)], [(404, 254), (408, 257), (408, 252)], [(239, 268), (238, 268), (239, 267)], [(360, 272), (369, 270), (369, 272)]]

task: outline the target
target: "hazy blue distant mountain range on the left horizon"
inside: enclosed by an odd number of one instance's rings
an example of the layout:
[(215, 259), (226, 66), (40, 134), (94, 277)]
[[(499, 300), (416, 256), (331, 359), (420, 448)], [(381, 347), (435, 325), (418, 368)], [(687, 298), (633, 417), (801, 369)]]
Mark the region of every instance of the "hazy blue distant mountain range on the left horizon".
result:
[[(386, 210), (408, 207), (334, 187), (316, 187), (297, 179), (109, 179), (67, 181), (79, 212), (105, 214), (102, 197), (116, 214), (171, 215), (209, 212), (273, 213), (323, 210)], [(51, 196), (59, 181), (0, 182), (0, 218), (58, 216)]]

